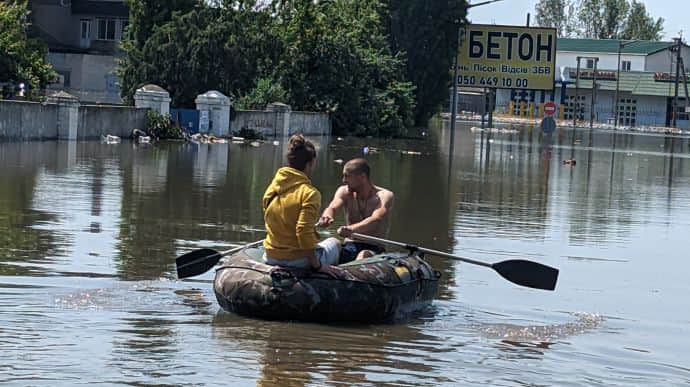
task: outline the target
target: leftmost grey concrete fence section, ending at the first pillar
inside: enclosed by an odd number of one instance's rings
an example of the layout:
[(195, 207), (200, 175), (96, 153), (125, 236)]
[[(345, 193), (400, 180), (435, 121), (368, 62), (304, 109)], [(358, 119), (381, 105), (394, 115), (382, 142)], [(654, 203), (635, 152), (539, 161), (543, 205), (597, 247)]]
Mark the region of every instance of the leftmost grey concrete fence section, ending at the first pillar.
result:
[(0, 140), (57, 138), (57, 106), (0, 100)]

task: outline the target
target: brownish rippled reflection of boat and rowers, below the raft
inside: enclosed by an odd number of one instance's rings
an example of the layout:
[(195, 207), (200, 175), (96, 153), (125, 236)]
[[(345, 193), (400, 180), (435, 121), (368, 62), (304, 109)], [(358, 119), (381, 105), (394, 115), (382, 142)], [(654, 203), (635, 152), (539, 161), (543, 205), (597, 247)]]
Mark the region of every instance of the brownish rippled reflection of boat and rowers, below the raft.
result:
[[(212, 324), (215, 339), (228, 351), (261, 348), (259, 386), (412, 384), (421, 375), (435, 374), (422, 360), (429, 355), (423, 354), (443, 351), (436, 338), (406, 326), (275, 324), (223, 312)], [(382, 370), (388, 370), (385, 380), (378, 375)], [(435, 376), (427, 382), (449, 380)]]

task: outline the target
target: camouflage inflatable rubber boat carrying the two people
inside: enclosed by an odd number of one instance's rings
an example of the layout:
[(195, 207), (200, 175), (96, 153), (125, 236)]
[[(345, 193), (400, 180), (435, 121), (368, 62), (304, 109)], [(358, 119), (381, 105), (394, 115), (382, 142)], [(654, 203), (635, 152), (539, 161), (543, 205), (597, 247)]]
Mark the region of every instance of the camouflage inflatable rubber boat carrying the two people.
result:
[(230, 312), (271, 320), (381, 322), (429, 305), (441, 274), (422, 253), (384, 253), (340, 265), (342, 277), (263, 263), (262, 249), (230, 257), (213, 289)]

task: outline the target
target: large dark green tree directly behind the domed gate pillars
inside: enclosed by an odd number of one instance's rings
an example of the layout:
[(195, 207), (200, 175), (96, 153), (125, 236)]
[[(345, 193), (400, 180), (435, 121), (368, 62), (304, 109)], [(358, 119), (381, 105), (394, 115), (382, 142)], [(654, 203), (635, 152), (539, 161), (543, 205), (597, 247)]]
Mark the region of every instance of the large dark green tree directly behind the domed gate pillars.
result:
[(176, 106), (193, 106), (196, 96), (208, 90), (244, 94), (272, 71), (280, 53), (270, 14), (247, 1), (198, 4), (167, 14), (170, 19), (158, 18), (148, 35), (136, 33), (141, 27), (133, 17), (132, 36), (145, 40), (123, 44), (127, 59), (118, 71), (129, 101), (145, 83), (168, 90)]

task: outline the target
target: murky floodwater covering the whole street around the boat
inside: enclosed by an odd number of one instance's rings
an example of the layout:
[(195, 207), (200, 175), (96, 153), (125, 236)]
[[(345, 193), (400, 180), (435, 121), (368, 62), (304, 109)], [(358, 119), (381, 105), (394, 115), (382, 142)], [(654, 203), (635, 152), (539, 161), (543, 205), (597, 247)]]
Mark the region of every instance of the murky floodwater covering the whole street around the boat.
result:
[(333, 160), (378, 148), (390, 239), (555, 266), (555, 292), (429, 257), (437, 299), (396, 324), (220, 313), (212, 272), (178, 281), (174, 259), (263, 237), (282, 144), (0, 144), (0, 383), (690, 383), (689, 140), (463, 124), (449, 155), (448, 139), (317, 139), (313, 180), (326, 201)]

